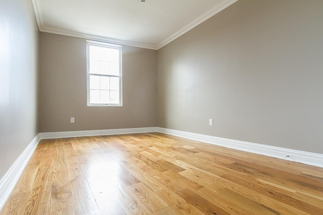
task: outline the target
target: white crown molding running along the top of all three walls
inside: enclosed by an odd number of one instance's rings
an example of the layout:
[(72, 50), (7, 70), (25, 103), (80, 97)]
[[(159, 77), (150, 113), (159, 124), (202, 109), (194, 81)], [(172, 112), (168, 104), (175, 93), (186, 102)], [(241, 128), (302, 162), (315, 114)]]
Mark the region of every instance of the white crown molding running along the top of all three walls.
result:
[(52, 33), (52, 34), (60, 34), (60, 35), (65, 35), (65, 36), (71, 36), (71, 37), (78, 37), (78, 38), (83, 38), (83, 39), (88, 39), (88, 40), (95, 40), (99, 42), (108, 42), (108, 43), (114, 43), (114, 44), (119, 44), (119, 45), (128, 45), (128, 46), (134, 46), (134, 47), (139, 47), (139, 48), (147, 48), (147, 49), (152, 49), (152, 50), (158, 50), (165, 45), (169, 44), (173, 40), (179, 38), (186, 32), (190, 31), (194, 27), (198, 26), (205, 20), (211, 18), (212, 16), (218, 14), (219, 12), (223, 11), (230, 5), (236, 3), (238, 0), (224, 0), (214, 8), (210, 9), (197, 19), (195, 19), (193, 22), (189, 23), (186, 25), (184, 28), (180, 29), (176, 33), (172, 34), (170, 37), (166, 38), (165, 40), (161, 41), (157, 45), (149, 45), (149, 44), (144, 44), (144, 43), (138, 43), (138, 42), (132, 42), (128, 40), (122, 40), (122, 39), (116, 39), (116, 38), (110, 38), (110, 37), (105, 37), (105, 36), (100, 36), (100, 35), (94, 35), (94, 34), (88, 34), (88, 33), (82, 33), (82, 32), (74, 32), (74, 31), (67, 31), (67, 30), (62, 30), (62, 29), (57, 29), (57, 28), (48, 28), (44, 25), (42, 14), (41, 14), (41, 8), (40, 8), (40, 3), (39, 0), (32, 0), (32, 5), (34, 8), (34, 13), (37, 21), (37, 25), (39, 28), (39, 31), (41, 32), (46, 32), (46, 33)]

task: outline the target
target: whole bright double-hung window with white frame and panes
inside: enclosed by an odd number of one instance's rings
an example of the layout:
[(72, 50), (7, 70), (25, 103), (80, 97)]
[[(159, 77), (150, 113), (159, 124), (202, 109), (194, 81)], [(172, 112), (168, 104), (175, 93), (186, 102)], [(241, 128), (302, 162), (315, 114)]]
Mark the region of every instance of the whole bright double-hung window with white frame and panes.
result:
[(122, 46), (87, 41), (87, 106), (122, 106)]

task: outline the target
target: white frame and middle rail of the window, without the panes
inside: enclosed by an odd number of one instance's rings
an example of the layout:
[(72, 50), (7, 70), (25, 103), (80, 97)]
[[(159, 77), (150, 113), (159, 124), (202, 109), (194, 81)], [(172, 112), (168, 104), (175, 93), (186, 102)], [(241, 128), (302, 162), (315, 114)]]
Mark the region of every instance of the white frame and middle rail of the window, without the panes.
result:
[[(119, 76), (102, 75), (102, 74), (90, 74), (90, 45), (119, 49)], [(104, 76), (104, 77), (119, 77), (119, 104), (103, 104), (103, 103), (90, 103), (90, 75)], [(99, 106), (99, 107), (121, 107), (122, 106), (122, 46), (110, 43), (86, 41), (86, 89), (87, 89), (87, 106)]]

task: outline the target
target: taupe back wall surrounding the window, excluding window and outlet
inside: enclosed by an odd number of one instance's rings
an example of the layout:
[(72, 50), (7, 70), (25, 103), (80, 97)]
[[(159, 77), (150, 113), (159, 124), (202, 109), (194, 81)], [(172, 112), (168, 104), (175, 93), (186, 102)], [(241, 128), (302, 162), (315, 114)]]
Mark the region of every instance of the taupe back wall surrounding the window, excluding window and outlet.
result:
[(123, 106), (87, 107), (86, 40), (41, 32), (40, 132), (156, 126), (157, 53), (122, 51)]

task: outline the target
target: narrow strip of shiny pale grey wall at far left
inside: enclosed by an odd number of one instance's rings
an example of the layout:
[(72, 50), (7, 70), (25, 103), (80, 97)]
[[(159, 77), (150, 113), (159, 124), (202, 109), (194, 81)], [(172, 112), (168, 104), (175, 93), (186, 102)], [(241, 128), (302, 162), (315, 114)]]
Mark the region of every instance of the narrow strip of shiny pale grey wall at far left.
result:
[(0, 1), (0, 180), (38, 133), (37, 31), (31, 1)]

